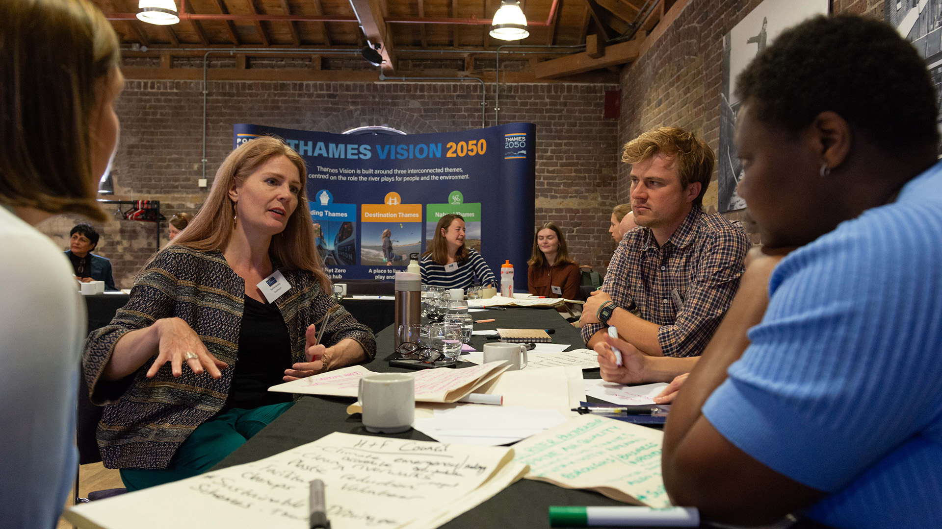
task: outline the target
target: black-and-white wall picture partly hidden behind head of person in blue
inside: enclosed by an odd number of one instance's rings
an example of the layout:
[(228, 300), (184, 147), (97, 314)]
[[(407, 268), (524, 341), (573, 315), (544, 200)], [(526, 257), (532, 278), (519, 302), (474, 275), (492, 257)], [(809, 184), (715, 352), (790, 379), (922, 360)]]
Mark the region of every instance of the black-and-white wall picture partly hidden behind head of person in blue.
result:
[[(937, 3), (942, 0), (933, 0)], [(723, 94), (720, 102), (719, 203), (721, 213), (746, 207), (736, 193), (742, 166), (733, 133), (740, 102), (736, 99), (736, 79), (759, 52), (784, 29), (818, 14), (827, 14), (828, 0), (765, 0), (723, 37)]]

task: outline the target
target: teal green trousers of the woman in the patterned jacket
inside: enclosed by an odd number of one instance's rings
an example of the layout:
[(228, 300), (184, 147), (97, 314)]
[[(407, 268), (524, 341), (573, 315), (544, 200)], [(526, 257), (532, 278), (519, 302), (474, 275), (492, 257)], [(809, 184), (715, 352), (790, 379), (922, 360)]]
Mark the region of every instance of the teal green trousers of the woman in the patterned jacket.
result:
[(166, 469), (121, 469), (124, 488), (147, 489), (199, 475), (213, 468), (235, 449), (278, 418), (293, 402), (255, 409), (230, 409), (199, 425), (177, 449)]

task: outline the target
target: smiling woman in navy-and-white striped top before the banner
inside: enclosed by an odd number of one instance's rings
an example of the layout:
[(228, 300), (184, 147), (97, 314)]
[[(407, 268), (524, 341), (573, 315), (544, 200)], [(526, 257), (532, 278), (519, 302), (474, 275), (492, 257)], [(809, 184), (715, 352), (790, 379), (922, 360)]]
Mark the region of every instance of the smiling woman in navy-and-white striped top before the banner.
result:
[(435, 238), (419, 266), (422, 284), (467, 289), (474, 281), (484, 286), (497, 283), (478, 251), (464, 246), (464, 217), (458, 214), (448, 214), (438, 221)]

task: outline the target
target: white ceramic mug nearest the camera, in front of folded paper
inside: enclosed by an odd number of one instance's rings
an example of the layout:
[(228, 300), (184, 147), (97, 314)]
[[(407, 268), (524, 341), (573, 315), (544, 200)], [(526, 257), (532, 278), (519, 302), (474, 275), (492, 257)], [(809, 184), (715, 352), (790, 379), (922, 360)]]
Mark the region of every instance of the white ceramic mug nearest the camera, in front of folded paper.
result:
[(415, 420), (415, 378), (406, 373), (376, 373), (360, 378), (363, 425), (373, 433), (396, 434)]

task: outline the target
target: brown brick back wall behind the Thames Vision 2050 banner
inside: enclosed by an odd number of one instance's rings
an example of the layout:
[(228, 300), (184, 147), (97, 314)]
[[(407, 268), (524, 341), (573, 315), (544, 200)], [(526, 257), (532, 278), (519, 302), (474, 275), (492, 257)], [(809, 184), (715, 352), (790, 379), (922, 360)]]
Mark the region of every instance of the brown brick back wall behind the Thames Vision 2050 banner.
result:
[[(481, 126), (477, 82), (219, 81), (210, 82), (208, 88), (206, 175), (210, 184), (219, 163), (232, 150), (234, 123), (334, 133), (362, 125), (387, 125), (410, 134)], [(500, 122), (537, 125), (536, 223), (558, 223), (577, 261), (596, 269), (604, 269), (613, 249), (608, 229), (615, 204), (618, 120), (605, 120), (602, 114), (605, 90), (616, 88), (508, 84), (500, 92)], [(493, 85), (486, 90), (486, 124), (492, 126)], [(196, 213), (206, 195), (197, 186), (203, 168), (202, 83), (129, 80), (118, 115), (122, 135), (115, 158), (116, 198), (161, 200), (168, 217), (179, 211)], [(41, 230), (66, 248), (76, 220), (57, 217), (43, 223)], [(130, 288), (134, 274), (154, 252), (154, 224), (113, 220), (100, 228), (103, 238), (96, 252), (111, 259), (120, 287)], [(166, 241), (164, 223), (162, 242)]]

